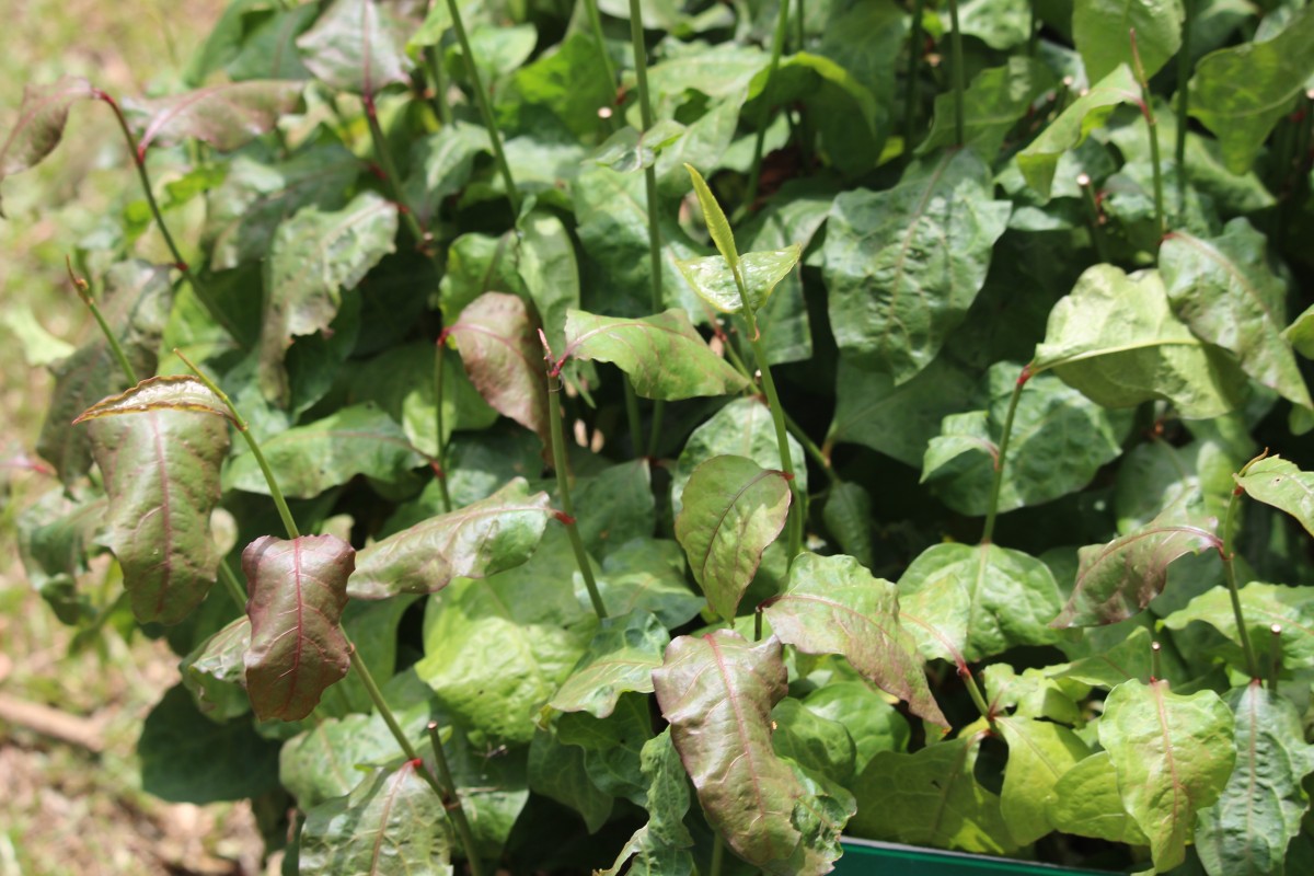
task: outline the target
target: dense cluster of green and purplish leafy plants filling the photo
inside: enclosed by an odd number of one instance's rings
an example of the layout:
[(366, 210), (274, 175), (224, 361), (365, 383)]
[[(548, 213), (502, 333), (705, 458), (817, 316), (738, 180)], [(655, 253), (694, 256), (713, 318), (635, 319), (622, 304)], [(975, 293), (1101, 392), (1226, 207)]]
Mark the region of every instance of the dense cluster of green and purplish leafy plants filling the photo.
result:
[(0, 173), (99, 101), (145, 198), (21, 520), (183, 658), (143, 785), (304, 873), (1314, 872), (1260, 5), (234, 0), (185, 93), (29, 88)]

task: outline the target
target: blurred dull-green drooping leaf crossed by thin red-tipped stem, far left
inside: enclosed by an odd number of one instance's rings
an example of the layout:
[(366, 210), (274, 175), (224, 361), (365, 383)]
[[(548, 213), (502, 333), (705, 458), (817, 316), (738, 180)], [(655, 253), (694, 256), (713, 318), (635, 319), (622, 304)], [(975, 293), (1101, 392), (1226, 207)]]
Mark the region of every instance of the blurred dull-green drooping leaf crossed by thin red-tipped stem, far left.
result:
[[(172, 306), (168, 268), (134, 260), (105, 272), (101, 315), (139, 376), (155, 373), (160, 336)], [(70, 485), (91, 468), (91, 436), (72, 427), (74, 418), (105, 395), (122, 390), (127, 378), (99, 332), (51, 370), (55, 389), (37, 439), (37, 453)]]

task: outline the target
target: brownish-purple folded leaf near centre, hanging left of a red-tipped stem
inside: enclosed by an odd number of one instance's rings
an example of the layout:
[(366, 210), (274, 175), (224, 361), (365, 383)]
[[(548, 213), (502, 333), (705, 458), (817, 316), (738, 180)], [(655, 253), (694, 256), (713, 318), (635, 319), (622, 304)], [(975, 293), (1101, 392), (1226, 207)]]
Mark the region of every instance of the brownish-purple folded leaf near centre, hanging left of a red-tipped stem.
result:
[(539, 320), (516, 296), (486, 292), (447, 331), (480, 395), (547, 444), (548, 385)]

